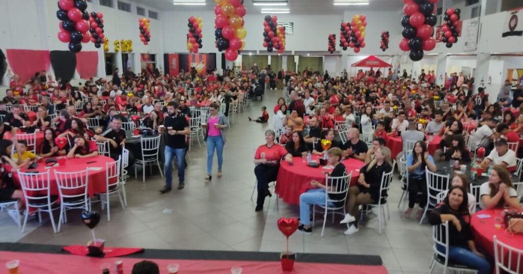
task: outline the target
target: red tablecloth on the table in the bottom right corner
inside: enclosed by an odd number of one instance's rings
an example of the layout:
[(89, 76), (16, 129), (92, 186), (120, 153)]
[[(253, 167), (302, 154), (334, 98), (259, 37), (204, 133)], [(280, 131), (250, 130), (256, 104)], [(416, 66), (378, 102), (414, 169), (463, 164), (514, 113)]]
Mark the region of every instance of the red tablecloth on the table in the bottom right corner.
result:
[[(501, 211), (501, 209), (497, 209)], [(477, 218), (477, 215), (488, 214), (491, 217), (486, 219)], [(497, 236), (497, 240), (503, 242), (507, 245), (523, 250), (523, 235), (509, 235), (505, 232), (505, 225), (503, 224), (501, 229), (496, 229), (494, 224), (496, 223), (496, 210), (495, 209), (485, 209), (479, 212), (476, 212), (470, 221), (472, 227), (472, 233), (474, 235), (474, 242), (476, 245), (479, 245), (485, 249), (488, 253), (494, 257), (494, 235)], [(505, 258), (508, 261), (508, 253), (505, 254)], [(521, 258), (523, 261), (523, 257)], [(513, 269), (515, 269), (517, 258), (512, 258)], [(520, 265), (520, 270), (523, 273), (523, 264)]]

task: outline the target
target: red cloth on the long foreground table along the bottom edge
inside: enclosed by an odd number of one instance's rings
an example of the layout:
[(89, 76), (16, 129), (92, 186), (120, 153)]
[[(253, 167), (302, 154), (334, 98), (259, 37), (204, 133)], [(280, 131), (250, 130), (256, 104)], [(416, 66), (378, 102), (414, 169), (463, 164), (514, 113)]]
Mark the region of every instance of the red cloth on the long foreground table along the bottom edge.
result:
[[(123, 273), (131, 273), (139, 258), (93, 258), (73, 255), (0, 252), (0, 266), (10, 260), (20, 260), (18, 271), (24, 273), (101, 273), (102, 264), (110, 264), (111, 273), (115, 273), (115, 261), (122, 261)], [(283, 273), (279, 261), (241, 261), (241, 260), (188, 260), (188, 259), (148, 259), (160, 268), (160, 273), (167, 273), (167, 265), (179, 264), (178, 273), (223, 273), (230, 274), (232, 267), (242, 267), (243, 273)], [(362, 266), (343, 264), (300, 263), (294, 264), (294, 270), (288, 273), (355, 273), (386, 274), (383, 266)]]

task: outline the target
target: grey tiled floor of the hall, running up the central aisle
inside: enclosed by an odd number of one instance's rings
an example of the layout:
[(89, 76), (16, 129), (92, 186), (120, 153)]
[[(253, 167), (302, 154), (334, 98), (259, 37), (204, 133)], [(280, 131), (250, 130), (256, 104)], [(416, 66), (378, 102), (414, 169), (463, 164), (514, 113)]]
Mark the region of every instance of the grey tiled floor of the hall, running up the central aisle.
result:
[[(282, 201), (276, 205), (273, 196), (266, 200), (263, 213), (254, 212), (252, 159), (257, 146), (264, 143), (263, 132), (272, 127), (272, 121), (265, 125), (247, 121), (247, 115), (259, 116), (263, 105), (271, 111), (281, 94), (268, 90), (263, 102), (254, 102), (246, 113), (234, 118), (234, 124), (227, 132), (222, 178), (215, 176), (217, 168), (214, 166), (212, 181), (203, 180), (207, 152), (194, 142), (188, 153), (185, 189), (158, 194), (164, 181), (156, 173), (148, 176), (145, 183), (130, 180), (126, 185), (129, 206), (122, 210), (118, 199), (112, 199), (111, 221), (108, 222), (103, 213), (103, 220), (96, 228), (97, 237), (106, 239), (110, 246), (283, 251), (285, 237), (278, 231), (276, 221), (280, 217), (297, 217), (298, 207)], [(292, 235), (290, 249), (307, 253), (380, 255), (390, 273), (426, 273), (432, 255), (431, 230), (414, 219), (400, 218), (397, 209), (400, 195), (396, 177), (390, 193), (390, 220), (382, 235), (378, 234), (378, 220), (374, 214), (361, 223), (360, 232), (353, 236), (343, 235), (344, 227), (337, 224), (339, 219), (334, 224), (328, 219), (323, 238), (318, 221), (319, 228), (312, 235), (298, 232)], [(99, 205), (94, 208), (99, 209)], [(165, 209), (170, 212), (164, 213)], [(91, 236), (81, 223), (79, 212), (70, 211), (68, 216), (69, 223), (63, 225), (58, 234), (53, 234), (49, 221), (38, 227), (36, 219), (30, 218), (26, 233), (22, 235), (7, 213), (2, 212), (0, 242), (85, 244)]]

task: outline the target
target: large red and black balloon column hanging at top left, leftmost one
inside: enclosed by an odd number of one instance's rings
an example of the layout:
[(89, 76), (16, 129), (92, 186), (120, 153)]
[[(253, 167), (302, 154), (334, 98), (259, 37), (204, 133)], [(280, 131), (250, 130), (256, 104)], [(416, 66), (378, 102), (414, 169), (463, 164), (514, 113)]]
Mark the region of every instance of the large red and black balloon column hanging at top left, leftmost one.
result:
[(60, 0), (59, 10), (56, 17), (60, 19), (60, 32), (58, 39), (64, 43), (69, 43), (69, 50), (79, 52), (82, 50), (82, 43), (87, 43), (91, 37), (89, 31), (89, 14), (87, 2), (85, 0)]

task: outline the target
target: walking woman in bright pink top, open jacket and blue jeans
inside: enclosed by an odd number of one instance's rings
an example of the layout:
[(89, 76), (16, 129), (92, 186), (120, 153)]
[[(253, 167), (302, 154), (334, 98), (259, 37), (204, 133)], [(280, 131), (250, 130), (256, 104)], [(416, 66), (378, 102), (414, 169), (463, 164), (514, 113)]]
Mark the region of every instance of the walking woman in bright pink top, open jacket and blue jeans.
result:
[(214, 150), (218, 154), (218, 177), (222, 176), (223, 163), (223, 146), (225, 145), (225, 134), (223, 129), (229, 127), (229, 121), (218, 110), (220, 106), (217, 103), (212, 103), (209, 106), (210, 115), (207, 118), (207, 127), (205, 134), (205, 141), (207, 142), (207, 176), (205, 180), (212, 179), (212, 158), (214, 157)]

